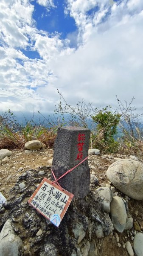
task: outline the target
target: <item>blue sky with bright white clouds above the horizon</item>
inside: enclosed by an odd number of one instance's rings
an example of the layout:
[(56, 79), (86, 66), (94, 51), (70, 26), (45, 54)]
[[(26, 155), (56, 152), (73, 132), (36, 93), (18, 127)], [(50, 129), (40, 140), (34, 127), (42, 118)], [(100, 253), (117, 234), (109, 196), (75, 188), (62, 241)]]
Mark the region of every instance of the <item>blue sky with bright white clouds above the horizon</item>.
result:
[(0, 111), (143, 108), (143, 0), (0, 0)]

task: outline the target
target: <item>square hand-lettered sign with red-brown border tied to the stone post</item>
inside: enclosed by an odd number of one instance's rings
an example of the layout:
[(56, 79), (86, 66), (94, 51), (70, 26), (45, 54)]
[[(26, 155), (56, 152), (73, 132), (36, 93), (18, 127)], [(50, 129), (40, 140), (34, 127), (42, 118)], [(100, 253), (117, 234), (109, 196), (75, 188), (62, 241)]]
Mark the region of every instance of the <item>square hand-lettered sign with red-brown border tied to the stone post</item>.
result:
[(52, 181), (44, 178), (28, 200), (38, 212), (48, 218), (56, 227), (64, 217), (74, 195), (65, 189), (61, 189)]

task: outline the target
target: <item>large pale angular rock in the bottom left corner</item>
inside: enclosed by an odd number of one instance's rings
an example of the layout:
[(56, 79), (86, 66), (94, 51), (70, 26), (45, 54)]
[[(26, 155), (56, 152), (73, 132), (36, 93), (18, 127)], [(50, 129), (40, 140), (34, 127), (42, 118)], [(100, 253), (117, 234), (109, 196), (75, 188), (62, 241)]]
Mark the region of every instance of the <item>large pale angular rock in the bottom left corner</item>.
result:
[(8, 219), (0, 233), (0, 255), (18, 256), (22, 240), (14, 233), (11, 227), (11, 220)]

